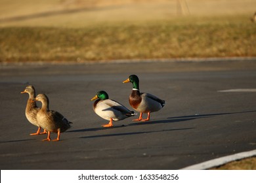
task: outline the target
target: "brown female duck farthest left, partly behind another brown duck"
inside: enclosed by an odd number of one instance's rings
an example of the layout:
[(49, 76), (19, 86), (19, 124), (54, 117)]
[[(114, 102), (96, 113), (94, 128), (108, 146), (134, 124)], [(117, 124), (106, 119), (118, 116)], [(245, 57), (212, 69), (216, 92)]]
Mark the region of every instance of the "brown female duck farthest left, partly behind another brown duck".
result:
[(40, 108), (37, 107), (36, 103), (32, 103), (32, 101), (35, 100), (35, 88), (33, 88), (33, 86), (27, 86), (25, 90), (20, 93), (28, 93), (29, 97), (25, 111), (26, 118), (31, 124), (36, 125), (38, 127), (37, 132), (30, 133), (30, 135), (39, 135), (47, 133), (45, 130), (43, 131), (43, 133), (40, 133), (41, 126), (39, 126), (39, 124), (37, 123), (37, 112), (40, 110)]

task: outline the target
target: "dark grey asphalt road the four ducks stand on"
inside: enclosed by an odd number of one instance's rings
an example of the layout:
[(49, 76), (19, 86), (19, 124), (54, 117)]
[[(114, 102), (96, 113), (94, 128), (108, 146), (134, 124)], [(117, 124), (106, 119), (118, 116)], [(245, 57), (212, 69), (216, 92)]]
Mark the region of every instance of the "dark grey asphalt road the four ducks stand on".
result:
[[(256, 60), (0, 65), (1, 169), (181, 169), (256, 148)], [(165, 107), (150, 122), (114, 127), (93, 112), (98, 90), (130, 108), (131, 74)], [(30, 136), (29, 84), (73, 122), (58, 142)], [(231, 90), (231, 92), (219, 92)], [(39, 103), (38, 103), (39, 104)], [(40, 105), (40, 104), (39, 104)], [(56, 134), (52, 134), (54, 139)]]

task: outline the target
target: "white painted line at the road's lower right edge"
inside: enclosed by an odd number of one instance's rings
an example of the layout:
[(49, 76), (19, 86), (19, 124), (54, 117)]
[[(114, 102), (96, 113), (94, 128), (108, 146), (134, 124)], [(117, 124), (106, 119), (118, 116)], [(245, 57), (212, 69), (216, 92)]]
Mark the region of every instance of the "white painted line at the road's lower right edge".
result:
[(224, 165), (231, 161), (236, 161), (236, 160), (240, 160), (240, 159), (244, 159), (244, 158), (250, 158), (252, 156), (256, 156), (256, 150), (240, 152), (238, 154), (233, 154), (230, 156), (224, 156), (221, 158), (211, 159), (211, 160), (205, 161), (203, 163), (198, 163), (196, 165), (184, 167), (181, 170), (205, 170), (205, 169), (210, 169), (212, 167), (218, 167), (218, 166)]

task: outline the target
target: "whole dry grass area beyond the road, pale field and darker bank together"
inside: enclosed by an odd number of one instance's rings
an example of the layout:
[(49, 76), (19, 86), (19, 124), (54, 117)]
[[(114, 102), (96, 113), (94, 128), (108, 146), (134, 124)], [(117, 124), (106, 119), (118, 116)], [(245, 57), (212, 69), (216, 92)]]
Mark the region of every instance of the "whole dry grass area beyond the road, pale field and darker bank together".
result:
[(186, 2), (2, 0), (0, 61), (256, 56), (256, 1)]

